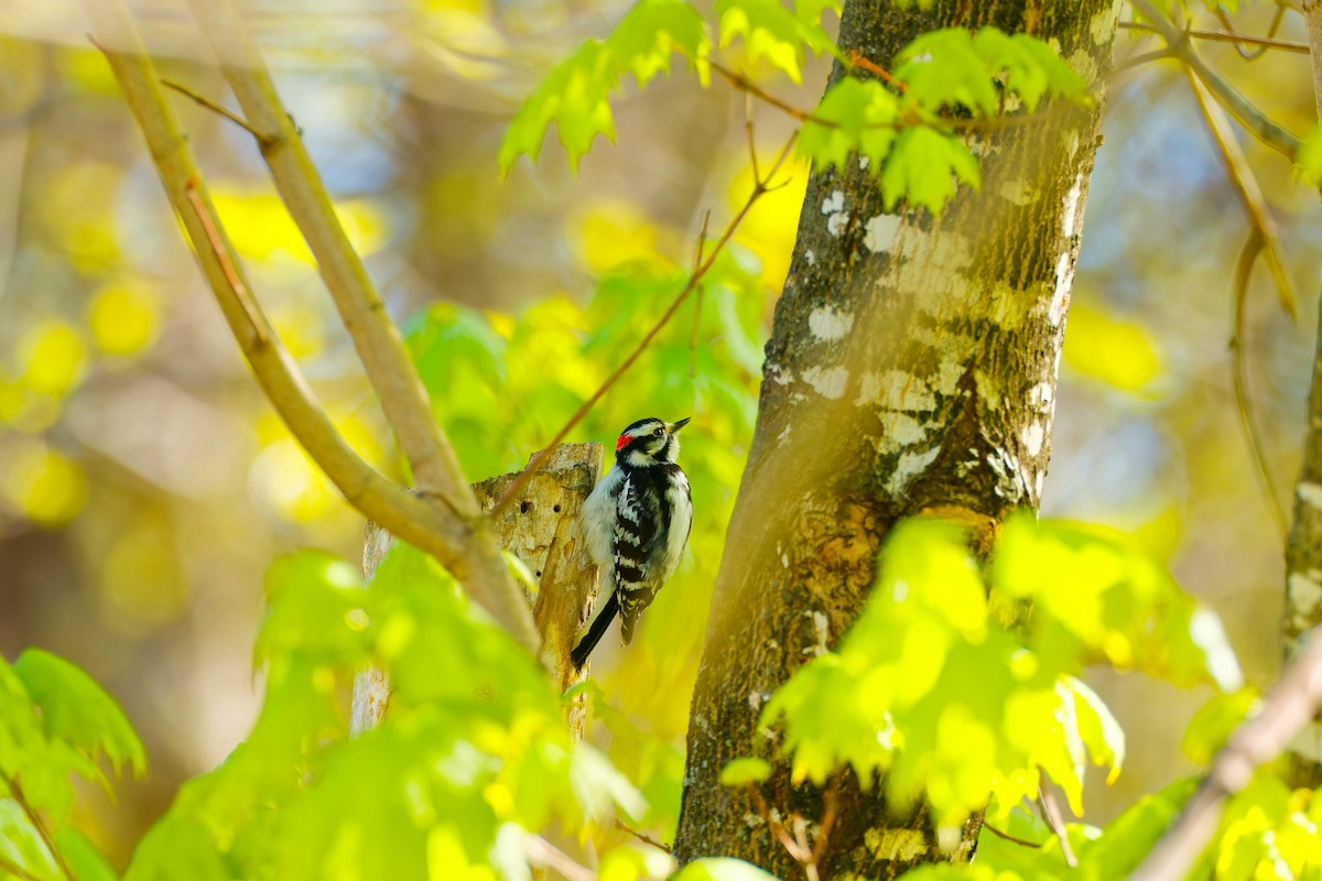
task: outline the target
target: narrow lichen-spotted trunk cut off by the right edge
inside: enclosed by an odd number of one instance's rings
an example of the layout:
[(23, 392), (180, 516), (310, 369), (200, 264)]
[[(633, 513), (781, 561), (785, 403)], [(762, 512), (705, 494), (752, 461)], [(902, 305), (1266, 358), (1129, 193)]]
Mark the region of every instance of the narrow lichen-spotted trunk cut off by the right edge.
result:
[[(1322, 116), (1322, 1), (1303, 4), (1309, 46), (1313, 49), (1313, 90)], [(1302, 654), (1303, 637), (1322, 625), (1322, 310), (1318, 349), (1313, 357), (1303, 464), (1294, 485), (1294, 523), (1285, 546), (1285, 614), (1281, 638), (1285, 659)], [(1290, 745), (1296, 786), (1322, 786), (1322, 722), (1306, 725)]]

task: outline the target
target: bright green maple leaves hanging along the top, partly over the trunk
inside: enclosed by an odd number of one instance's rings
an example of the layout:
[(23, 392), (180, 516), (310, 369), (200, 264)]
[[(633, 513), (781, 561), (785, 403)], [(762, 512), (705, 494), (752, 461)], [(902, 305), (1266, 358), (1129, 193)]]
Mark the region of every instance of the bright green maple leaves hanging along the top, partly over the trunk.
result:
[[(764, 61), (792, 82), (808, 53), (839, 57), (821, 26), (832, 0), (719, 0), (719, 49), (739, 42), (746, 61)], [(641, 38), (640, 34), (650, 34)], [(683, 0), (640, 0), (605, 40), (588, 40), (557, 65), (524, 103), (501, 148), (506, 173), (521, 153), (537, 160), (554, 122), (571, 166), (602, 133), (613, 139), (609, 95), (632, 71), (640, 86), (685, 54), (703, 85), (714, 50), (701, 15)], [(977, 188), (978, 161), (962, 131), (1010, 111), (1035, 111), (1047, 98), (1089, 103), (1088, 83), (1048, 44), (995, 28), (948, 28), (921, 34), (896, 58), (888, 83), (845, 77), (810, 114), (798, 143), (816, 165), (866, 160), (887, 210), (900, 202), (940, 213), (958, 184)], [(738, 81), (746, 82), (746, 81)]]

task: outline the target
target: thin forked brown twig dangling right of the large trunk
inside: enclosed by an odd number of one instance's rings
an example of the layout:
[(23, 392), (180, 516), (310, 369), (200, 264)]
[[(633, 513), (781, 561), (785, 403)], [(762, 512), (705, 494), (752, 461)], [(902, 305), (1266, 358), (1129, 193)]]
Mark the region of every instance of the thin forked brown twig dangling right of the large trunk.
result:
[(1198, 99), (1198, 107), (1203, 112), (1207, 131), (1211, 133), (1222, 159), (1225, 161), (1227, 173), (1240, 195), (1240, 202), (1244, 205), (1249, 229), (1252, 230), (1235, 267), (1235, 285), (1232, 289), (1235, 297), (1235, 329), (1231, 337), (1231, 370), (1235, 384), (1235, 408), (1239, 412), (1244, 440), (1248, 442), (1249, 453), (1253, 457), (1253, 465), (1263, 485), (1263, 494), (1266, 497), (1266, 506), (1272, 511), (1276, 527), (1284, 542), (1289, 534), (1289, 520), (1285, 515), (1285, 507), (1281, 505), (1281, 495), (1276, 489), (1276, 478), (1272, 476), (1272, 469), (1268, 464), (1266, 449), (1263, 442), (1253, 396), (1249, 392), (1248, 384), (1248, 347), (1245, 345), (1244, 326), (1248, 309), (1248, 283), (1257, 258), (1260, 255), (1265, 256), (1266, 264), (1272, 271), (1272, 279), (1276, 283), (1277, 299), (1281, 301), (1281, 308), (1292, 318), (1296, 317), (1294, 292), (1290, 285), (1290, 276), (1285, 269), (1285, 262), (1281, 259), (1280, 236), (1276, 231), (1276, 223), (1273, 223), (1272, 215), (1268, 213), (1266, 199), (1257, 185), (1257, 178), (1253, 177), (1248, 159), (1244, 156), (1244, 151), (1240, 149), (1239, 141), (1235, 140), (1229, 120), (1225, 119), (1225, 114), (1220, 106), (1212, 102), (1211, 95), (1207, 92), (1207, 86), (1188, 67), (1185, 67), (1185, 73), (1190, 87), (1194, 90), (1194, 96)]

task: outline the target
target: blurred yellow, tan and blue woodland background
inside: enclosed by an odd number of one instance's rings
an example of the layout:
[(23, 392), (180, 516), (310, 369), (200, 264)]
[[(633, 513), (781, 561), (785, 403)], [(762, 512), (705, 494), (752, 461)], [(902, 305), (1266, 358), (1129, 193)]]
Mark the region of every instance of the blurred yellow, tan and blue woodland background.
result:
[[(231, 106), (184, 4), (131, 5), (163, 73)], [(391, 313), (419, 358), (432, 359), (424, 370), (438, 416), (472, 479), (526, 460), (660, 313), (665, 299), (611, 279), (639, 265), (682, 269), (703, 214), (718, 229), (747, 192), (744, 96), (687, 75), (642, 95), (627, 88), (616, 143), (599, 143), (576, 176), (549, 145), (539, 165), (522, 161), (500, 178), (500, 139), (522, 96), (579, 40), (605, 33), (621, 0), (241, 8)], [(1273, 11), (1257, 4), (1236, 26), (1263, 33)], [(264, 568), (301, 546), (357, 559), (364, 524), (259, 395), (86, 30), (73, 0), (0, 1), (0, 654), (41, 646), (71, 658), (143, 733), (148, 777), (122, 786), (116, 804), (89, 790), (78, 808), (83, 828), (123, 861), (180, 781), (223, 759), (251, 724)], [(1280, 36), (1303, 40), (1297, 16)], [(1132, 32), (1120, 40), (1124, 55), (1154, 48)], [(1199, 50), (1288, 128), (1313, 124), (1306, 55), (1247, 62), (1227, 45)], [(810, 107), (825, 75), (818, 61), (801, 86), (767, 85)], [(280, 335), (346, 437), (398, 474), (250, 136), (186, 98), (175, 106)], [(754, 119), (764, 153), (791, 131), (768, 107)], [(1285, 160), (1241, 141), (1300, 293), (1292, 322), (1260, 271), (1244, 337), (1266, 460), (1288, 506), (1322, 211)], [(598, 664), (620, 712), (594, 736), (616, 741), (625, 770), (662, 783), (682, 770), (720, 531), (751, 437), (756, 346), (805, 177), (797, 166), (740, 230), (738, 281), (710, 299), (701, 322), (681, 313), (642, 375), (571, 437), (603, 440), (652, 411), (694, 409), (685, 461), (706, 530), (641, 646), (608, 647)], [(1134, 530), (1220, 613), (1249, 682), (1266, 684), (1281, 650), (1282, 539), (1239, 428), (1227, 345), (1247, 235), (1178, 69), (1161, 62), (1116, 77), (1043, 509)], [(1207, 695), (1104, 671), (1093, 684), (1129, 734), (1125, 773), (1109, 789), (1091, 785), (1085, 819), (1100, 822), (1190, 770), (1179, 737)], [(629, 738), (646, 749), (621, 757)]]

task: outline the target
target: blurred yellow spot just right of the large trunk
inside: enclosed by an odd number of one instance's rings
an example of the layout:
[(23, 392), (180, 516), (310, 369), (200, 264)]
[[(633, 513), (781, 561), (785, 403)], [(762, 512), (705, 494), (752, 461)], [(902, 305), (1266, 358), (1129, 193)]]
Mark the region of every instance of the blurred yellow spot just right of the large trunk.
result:
[(1080, 304), (1069, 306), (1064, 362), (1100, 382), (1137, 392), (1161, 371), (1161, 355), (1145, 326)]

